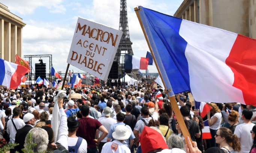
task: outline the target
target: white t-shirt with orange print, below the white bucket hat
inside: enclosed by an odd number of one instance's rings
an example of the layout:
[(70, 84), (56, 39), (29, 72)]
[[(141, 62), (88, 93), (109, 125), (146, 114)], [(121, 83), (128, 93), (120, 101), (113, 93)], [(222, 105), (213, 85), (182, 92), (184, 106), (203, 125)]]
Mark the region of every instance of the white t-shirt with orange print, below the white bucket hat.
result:
[(101, 150), (102, 153), (131, 153), (131, 150), (118, 140), (105, 143)]

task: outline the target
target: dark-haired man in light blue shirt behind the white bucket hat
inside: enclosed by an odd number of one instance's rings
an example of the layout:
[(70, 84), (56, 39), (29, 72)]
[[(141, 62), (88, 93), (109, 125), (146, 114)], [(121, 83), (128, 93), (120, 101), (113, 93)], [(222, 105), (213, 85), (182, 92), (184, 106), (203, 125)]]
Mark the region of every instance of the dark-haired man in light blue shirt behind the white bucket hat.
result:
[[(108, 130), (107, 142), (111, 141), (111, 139), (113, 137), (113, 132), (115, 131), (115, 129), (118, 125), (124, 125), (124, 126), (126, 126), (126, 128), (131, 130), (131, 127), (129, 125), (125, 125), (125, 123), (123, 123), (123, 121), (125, 120), (125, 114), (119, 112), (118, 114), (116, 114), (116, 119), (117, 119), (117, 123), (114, 125), (111, 125), (110, 129)], [(135, 138), (134, 134), (131, 132), (128, 138), (123, 141), (123, 144), (125, 146), (127, 146), (129, 149), (131, 149), (131, 147), (133, 146), (133, 143), (134, 143), (134, 138)], [(113, 137), (113, 139), (114, 139), (114, 137)], [(130, 145), (129, 145), (129, 142), (130, 142)], [(102, 152), (103, 152), (103, 150), (102, 150)]]

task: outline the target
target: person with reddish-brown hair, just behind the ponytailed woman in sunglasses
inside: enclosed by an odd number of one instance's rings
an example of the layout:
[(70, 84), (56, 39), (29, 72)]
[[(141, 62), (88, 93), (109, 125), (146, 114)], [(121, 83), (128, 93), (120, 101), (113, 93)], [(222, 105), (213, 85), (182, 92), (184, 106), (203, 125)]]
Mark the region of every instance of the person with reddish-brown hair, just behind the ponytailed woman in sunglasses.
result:
[(235, 110), (232, 110), (231, 113), (229, 113), (229, 116), (227, 117), (227, 120), (229, 122), (223, 123), (222, 127), (226, 127), (234, 133), (235, 127), (238, 124), (238, 119), (239, 119), (239, 113)]

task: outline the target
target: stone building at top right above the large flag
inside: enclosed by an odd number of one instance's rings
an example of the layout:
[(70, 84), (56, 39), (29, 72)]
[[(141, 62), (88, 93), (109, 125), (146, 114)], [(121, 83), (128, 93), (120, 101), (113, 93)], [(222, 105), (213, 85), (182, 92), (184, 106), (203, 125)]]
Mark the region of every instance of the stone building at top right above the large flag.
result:
[(256, 0), (184, 0), (174, 16), (256, 39)]

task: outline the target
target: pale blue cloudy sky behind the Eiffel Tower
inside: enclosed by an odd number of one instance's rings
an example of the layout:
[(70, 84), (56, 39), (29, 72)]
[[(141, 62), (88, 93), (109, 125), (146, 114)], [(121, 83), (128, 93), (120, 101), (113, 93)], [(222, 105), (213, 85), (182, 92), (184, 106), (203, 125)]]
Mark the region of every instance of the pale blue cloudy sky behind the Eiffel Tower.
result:
[[(140, 5), (173, 15), (182, 1), (127, 0), (128, 26), (135, 56), (146, 57), (149, 48), (134, 7)], [(54, 69), (62, 73), (65, 73), (68, 65), (66, 61), (78, 17), (119, 29), (120, 0), (1, 0), (1, 3), (26, 24), (23, 28), (23, 55), (51, 54)], [(34, 70), (39, 59), (32, 58)], [(42, 59), (49, 73), (49, 58)], [(72, 65), (69, 70), (85, 73)], [(158, 72), (155, 65), (149, 65), (148, 70), (149, 73)]]

